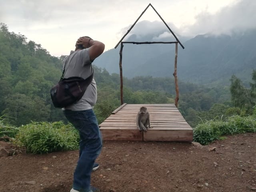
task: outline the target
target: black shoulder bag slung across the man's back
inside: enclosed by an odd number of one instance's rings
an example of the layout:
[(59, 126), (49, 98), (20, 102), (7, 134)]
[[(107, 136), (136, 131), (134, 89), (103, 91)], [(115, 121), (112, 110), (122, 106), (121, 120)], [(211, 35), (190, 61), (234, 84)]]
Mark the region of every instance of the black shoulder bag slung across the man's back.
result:
[(56, 108), (64, 108), (80, 100), (93, 79), (93, 68), (92, 74), (86, 79), (77, 76), (63, 78), (66, 62), (60, 81), (50, 90), (52, 103)]

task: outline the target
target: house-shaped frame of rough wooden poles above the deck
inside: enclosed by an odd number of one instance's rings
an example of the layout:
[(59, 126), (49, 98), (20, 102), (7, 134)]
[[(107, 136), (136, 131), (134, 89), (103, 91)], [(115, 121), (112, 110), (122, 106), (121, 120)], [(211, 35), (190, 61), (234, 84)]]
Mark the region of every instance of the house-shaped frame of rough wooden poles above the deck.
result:
[[(168, 30), (172, 33), (172, 35), (174, 36), (174, 38), (176, 39), (176, 41), (174, 42), (124, 42), (122, 41), (125, 36), (132, 30), (132, 28), (135, 26), (135, 24), (138, 22), (138, 20), (141, 18), (141, 16), (144, 14), (144, 12), (146, 12), (146, 10), (148, 9), (148, 7), (151, 6), (153, 8), (153, 10), (156, 12), (156, 14), (160, 17), (160, 19), (162, 20), (162, 22), (164, 22), (164, 24), (166, 25), (166, 27), (168, 28)], [(148, 6), (146, 7), (146, 9), (140, 14), (140, 16), (137, 18), (137, 20), (134, 22), (134, 24), (130, 27), (130, 29), (126, 32), (126, 34), (124, 34), (124, 36), (121, 38), (121, 40), (118, 42), (118, 44), (116, 44), (115, 48), (117, 48), (117, 46), (121, 43), (121, 47), (120, 47), (120, 60), (119, 60), (119, 68), (120, 68), (120, 101), (121, 101), (121, 105), (124, 104), (124, 100), (123, 100), (123, 72), (122, 72), (122, 51), (123, 51), (123, 47), (124, 47), (124, 43), (132, 43), (132, 44), (174, 44), (175, 43), (175, 60), (174, 60), (174, 79), (175, 79), (175, 89), (176, 89), (176, 98), (175, 98), (175, 105), (176, 107), (178, 107), (178, 100), (179, 100), (179, 87), (178, 87), (178, 78), (177, 78), (177, 57), (178, 57), (178, 44), (180, 44), (180, 46), (184, 49), (184, 46), (181, 44), (181, 42), (178, 40), (178, 38), (176, 37), (176, 35), (174, 34), (174, 32), (172, 32), (172, 30), (170, 29), (170, 27), (166, 24), (166, 22), (164, 21), (164, 19), (160, 16), (160, 14), (156, 11), (156, 9), (152, 6), (152, 4), (148, 4)]]

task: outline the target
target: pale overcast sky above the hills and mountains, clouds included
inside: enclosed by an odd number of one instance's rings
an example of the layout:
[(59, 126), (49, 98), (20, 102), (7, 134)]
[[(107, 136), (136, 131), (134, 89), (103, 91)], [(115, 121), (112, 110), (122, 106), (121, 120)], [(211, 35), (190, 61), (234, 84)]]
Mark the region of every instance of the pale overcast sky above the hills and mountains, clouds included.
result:
[[(104, 42), (106, 51), (149, 3), (182, 36), (256, 28), (256, 0), (0, 0), (0, 22), (54, 56), (69, 54), (80, 36)], [(162, 26), (149, 7), (131, 32), (143, 35)]]

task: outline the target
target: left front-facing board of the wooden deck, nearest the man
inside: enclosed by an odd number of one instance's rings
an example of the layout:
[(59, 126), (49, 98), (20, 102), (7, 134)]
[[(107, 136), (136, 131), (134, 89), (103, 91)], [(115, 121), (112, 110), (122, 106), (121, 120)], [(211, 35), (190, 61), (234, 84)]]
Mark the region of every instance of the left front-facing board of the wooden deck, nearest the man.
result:
[(100, 130), (103, 140), (143, 141), (143, 133), (138, 130)]

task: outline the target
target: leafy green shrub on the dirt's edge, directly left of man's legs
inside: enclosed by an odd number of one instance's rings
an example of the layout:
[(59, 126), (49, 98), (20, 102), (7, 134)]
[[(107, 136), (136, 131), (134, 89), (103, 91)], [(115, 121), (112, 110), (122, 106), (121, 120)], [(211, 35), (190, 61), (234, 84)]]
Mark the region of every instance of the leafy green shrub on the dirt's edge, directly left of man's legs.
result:
[(79, 134), (63, 122), (32, 122), (20, 127), (14, 142), (33, 154), (75, 150), (78, 149)]

